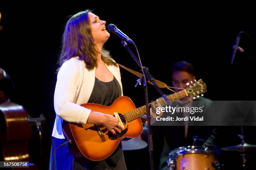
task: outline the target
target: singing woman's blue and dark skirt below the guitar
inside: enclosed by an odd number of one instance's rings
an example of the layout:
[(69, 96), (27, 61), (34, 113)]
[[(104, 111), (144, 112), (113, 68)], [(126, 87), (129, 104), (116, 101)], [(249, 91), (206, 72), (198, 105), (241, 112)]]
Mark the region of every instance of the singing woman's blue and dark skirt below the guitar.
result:
[(66, 142), (65, 139), (51, 138), (51, 156), (49, 170), (127, 170), (121, 142), (110, 157), (101, 161), (89, 161), (80, 164), (74, 158), (69, 146), (56, 147)]

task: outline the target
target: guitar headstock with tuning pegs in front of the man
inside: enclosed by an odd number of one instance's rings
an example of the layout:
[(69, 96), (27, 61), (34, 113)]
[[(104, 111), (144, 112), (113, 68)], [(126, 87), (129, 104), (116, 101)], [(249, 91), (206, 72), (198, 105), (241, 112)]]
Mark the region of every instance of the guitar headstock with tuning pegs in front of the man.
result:
[(187, 91), (188, 96), (194, 96), (194, 98), (195, 96), (199, 97), (199, 94), (203, 96), (202, 93), (207, 92), (206, 84), (202, 81), (202, 79), (195, 82), (191, 81), (190, 84), (187, 84), (187, 88), (185, 90)]

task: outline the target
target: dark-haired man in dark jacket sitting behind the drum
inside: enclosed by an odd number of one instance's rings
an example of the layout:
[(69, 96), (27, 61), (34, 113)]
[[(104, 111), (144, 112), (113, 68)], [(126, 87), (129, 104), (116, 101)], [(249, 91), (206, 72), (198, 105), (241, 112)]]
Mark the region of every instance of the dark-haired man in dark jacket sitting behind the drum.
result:
[[(186, 61), (178, 61), (172, 66), (172, 86), (181, 89), (174, 89), (179, 92), (186, 88), (186, 84), (190, 81), (195, 81), (195, 69), (192, 64)], [(196, 102), (195, 102), (196, 101)], [(200, 97), (195, 100), (190, 96), (175, 101), (174, 106), (178, 107), (199, 107), (204, 105), (204, 110), (210, 108), (211, 100)], [(185, 117), (185, 113), (183, 113)], [(163, 149), (160, 157), (160, 170), (167, 170), (166, 161), (169, 159), (169, 152), (183, 146), (193, 145), (193, 137), (207, 139), (201, 143), (202, 146), (213, 146), (215, 141), (216, 132), (212, 127), (205, 126), (191, 126), (184, 121), (183, 126), (163, 126), (159, 127), (158, 132), (162, 135)], [(159, 134), (158, 134), (159, 135)], [(199, 143), (197, 143), (199, 144)]]

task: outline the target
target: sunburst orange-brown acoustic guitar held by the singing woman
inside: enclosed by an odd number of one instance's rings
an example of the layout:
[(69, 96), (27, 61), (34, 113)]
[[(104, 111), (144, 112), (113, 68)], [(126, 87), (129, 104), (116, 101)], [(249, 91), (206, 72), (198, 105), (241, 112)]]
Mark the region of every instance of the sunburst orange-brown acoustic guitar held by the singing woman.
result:
[[(200, 79), (191, 82), (186, 89), (170, 94), (167, 98), (173, 102), (185, 96), (197, 96), (205, 92), (206, 85)], [(159, 101), (161, 106), (166, 105), (164, 99), (159, 99)], [(74, 157), (81, 162), (86, 160), (84, 158), (93, 161), (104, 160), (115, 151), (120, 140), (124, 137), (133, 138), (142, 133), (142, 122), (139, 118), (146, 114), (146, 106), (136, 108), (133, 101), (126, 96), (119, 97), (111, 106), (92, 103), (81, 106), (117, 117), (119, 124), (123, 127), (120, 134), (113, 134), (101, 124), (63, 123), (64, 136), (70, 141), (70, 149)]]

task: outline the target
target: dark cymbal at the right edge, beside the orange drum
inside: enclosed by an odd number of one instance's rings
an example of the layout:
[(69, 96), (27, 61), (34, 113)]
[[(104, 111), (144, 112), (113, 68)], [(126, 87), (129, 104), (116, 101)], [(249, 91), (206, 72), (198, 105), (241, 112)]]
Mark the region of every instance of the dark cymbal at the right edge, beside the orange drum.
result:
[(236, 145), (236, 146), (229, 146), (229, 147), (222, 147), (221, 150), (225, 151), (237, 151), (237, 152), (253, 152), (256, 151), (256, 145), (250, 145), (248, 143)]

